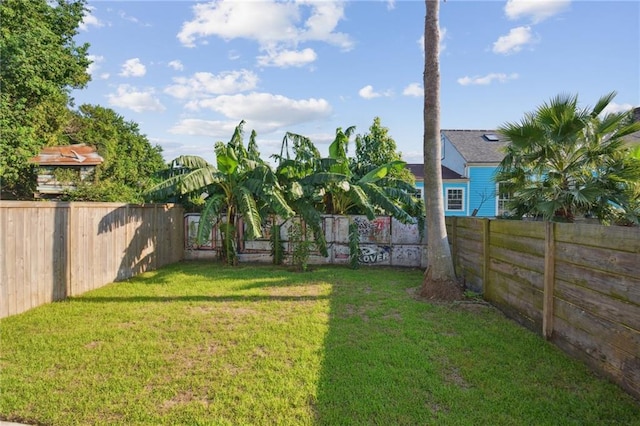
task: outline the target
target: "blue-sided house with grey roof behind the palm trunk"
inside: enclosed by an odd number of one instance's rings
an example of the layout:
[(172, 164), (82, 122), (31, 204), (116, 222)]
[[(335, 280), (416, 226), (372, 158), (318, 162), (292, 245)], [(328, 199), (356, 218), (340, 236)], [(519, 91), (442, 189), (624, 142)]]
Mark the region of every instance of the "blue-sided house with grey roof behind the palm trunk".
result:
[[(494, 175), (508, 144), (495, 130), (442, 130), (442, 190), (446, 216), (495, 217), (506, 212), (508, 193)], [(424, 195), (422, 164), (408, 164)]]

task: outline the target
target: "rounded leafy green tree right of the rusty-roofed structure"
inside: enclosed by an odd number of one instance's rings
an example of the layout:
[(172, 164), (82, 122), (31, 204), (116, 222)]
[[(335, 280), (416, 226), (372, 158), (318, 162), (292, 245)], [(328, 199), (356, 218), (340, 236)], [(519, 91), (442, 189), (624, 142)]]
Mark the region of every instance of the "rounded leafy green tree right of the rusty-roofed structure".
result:
[(153, 176), (167, 166), (162, 148), (151, 145), (138, 124), (110, 108), (81, 105), (65, 132), (67, 142), (95, 146), (104, 162), (91, 182), (80, 183), (67, 197), (86, 201), (140, 202)]

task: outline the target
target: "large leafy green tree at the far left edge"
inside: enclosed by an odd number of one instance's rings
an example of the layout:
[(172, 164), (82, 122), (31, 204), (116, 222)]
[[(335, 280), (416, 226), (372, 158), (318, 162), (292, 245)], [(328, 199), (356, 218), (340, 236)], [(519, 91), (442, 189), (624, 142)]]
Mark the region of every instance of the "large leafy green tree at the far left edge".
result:
[(57, 145), (70, 119), (69, 91), (84, 87), (88, 44), (74, 36), (85, 0), (3, 0), (0, 3), (0, 180), (5, 195), (33, 193), (28, 163)]

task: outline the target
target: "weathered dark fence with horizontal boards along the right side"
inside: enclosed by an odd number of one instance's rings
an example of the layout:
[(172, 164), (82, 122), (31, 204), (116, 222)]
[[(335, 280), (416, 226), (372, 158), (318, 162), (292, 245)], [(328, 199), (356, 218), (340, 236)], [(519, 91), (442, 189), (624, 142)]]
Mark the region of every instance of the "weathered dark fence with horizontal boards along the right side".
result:
[(640, 228), (448, 218), (456, 269), (640, 398)]

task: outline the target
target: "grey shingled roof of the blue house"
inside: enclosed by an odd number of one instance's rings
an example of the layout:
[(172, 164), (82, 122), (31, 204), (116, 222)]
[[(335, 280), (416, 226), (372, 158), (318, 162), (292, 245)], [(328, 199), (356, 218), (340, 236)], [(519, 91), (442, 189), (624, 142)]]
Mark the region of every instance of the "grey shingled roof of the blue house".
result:
[[(460, 152), (467, 163), (499, 163), (504, 158), (506, 138), (496, 130), (442, 130), (442, 133)], [(495, 135), (497, 141), (489, 141), (484, 135)], [(446, 155), (446, 153), (445, 153)]]

